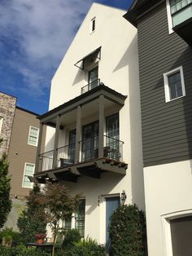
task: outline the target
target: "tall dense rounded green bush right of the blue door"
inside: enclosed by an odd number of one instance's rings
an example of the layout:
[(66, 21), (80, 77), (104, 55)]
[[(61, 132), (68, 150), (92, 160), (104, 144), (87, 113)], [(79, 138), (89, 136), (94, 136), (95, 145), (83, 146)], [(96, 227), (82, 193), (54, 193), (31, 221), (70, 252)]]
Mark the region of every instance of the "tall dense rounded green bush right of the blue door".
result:
[(120, 205), (109, 226), (111, 256), (145, 255), (146, 219), (137, 205)]

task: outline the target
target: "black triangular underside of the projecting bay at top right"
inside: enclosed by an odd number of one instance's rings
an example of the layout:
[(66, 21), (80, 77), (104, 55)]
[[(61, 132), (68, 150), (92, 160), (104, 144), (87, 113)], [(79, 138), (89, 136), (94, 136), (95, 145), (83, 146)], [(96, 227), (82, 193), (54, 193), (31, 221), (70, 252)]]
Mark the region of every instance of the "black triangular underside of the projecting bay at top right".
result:
[(192, 46), (192, 17), (173, 27), (172, 30), (174, 30), (177, 35)]

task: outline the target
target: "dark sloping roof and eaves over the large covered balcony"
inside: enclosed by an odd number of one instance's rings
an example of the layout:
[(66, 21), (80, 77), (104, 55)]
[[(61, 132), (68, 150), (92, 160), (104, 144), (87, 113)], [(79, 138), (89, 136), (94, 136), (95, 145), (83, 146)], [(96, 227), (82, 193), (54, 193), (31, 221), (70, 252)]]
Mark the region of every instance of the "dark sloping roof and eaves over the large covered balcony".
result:
[(100, 95), (103, 95), (105, 99), (110, 100), (113, 103), (116, 103), (120, 106), (124, 105), (124, 100), (127, 98), (126, 95), (121, 95), (116, 90), (100, 84), (92, 90), (85, 92), (82, 95), (77, 96), (74, 99), (69, 100), (68, 102), (59, 105), (59, 107), (50, 110), (49, 112), (38, 116), (37, 118), (41, 123), (46, 124), (47, 126), (55, 126), (55, 117), (61, 116), (66, 113), (72, 112), (79, 105), (83, 106), (93, 102), (94, 99), (98, 99)]

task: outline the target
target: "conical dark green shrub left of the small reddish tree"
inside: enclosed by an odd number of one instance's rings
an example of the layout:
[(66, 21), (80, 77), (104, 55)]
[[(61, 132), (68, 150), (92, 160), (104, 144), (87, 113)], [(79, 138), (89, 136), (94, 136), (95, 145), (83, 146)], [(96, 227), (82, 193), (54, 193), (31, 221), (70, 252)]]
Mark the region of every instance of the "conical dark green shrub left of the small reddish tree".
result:
[(46, 233), (46, 214), (41, 204), (40, 188), (35, 185), (27, 198), (27, 208), (18, 218), (17, 226), (24, 243), (35, 242), (37, 233)]

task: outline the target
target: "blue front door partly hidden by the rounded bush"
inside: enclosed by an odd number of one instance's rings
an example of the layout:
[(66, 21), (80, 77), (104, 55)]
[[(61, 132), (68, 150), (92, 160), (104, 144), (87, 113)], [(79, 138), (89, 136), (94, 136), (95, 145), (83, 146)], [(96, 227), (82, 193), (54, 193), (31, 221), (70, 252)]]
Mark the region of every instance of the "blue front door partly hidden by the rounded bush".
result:
[(110, 217), (114, 210), (120, 205), (120, 196), (106, 197), (106, 246), (110, 245), (110, 238), (108, 227), (110, 224)]

